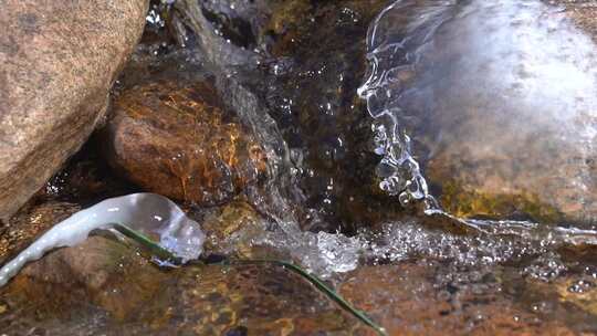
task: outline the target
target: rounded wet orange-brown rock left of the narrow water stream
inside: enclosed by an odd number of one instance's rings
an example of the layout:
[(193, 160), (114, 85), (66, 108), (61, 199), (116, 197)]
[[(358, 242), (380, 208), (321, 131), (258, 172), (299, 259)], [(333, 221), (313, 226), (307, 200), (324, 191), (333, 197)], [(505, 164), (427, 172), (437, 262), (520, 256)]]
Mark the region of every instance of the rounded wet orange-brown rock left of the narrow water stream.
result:
[(251, 135), (227, 114), (212, 86), (163, 81), (115, 102), (107, 158), (129, 180), (167, 197), (220, 203), (266, 169)]

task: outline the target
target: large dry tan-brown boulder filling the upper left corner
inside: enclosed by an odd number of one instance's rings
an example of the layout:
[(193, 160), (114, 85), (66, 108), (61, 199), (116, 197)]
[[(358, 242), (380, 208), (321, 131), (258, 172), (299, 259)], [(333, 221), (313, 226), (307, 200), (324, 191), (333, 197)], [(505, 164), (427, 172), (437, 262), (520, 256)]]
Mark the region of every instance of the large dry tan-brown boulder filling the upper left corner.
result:
[(102, 118), (147, 2), (2, 2), (0, 219), (40, 189)]

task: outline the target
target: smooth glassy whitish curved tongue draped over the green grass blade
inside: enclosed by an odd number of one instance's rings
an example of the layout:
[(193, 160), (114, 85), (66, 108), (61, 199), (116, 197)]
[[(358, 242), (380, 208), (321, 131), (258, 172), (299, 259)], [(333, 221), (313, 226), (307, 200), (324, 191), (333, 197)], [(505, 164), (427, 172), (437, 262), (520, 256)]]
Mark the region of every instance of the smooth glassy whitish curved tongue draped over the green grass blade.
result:
[[(42, 258), (52, 249), (80, 244), (93, 230), (107, 230), (114, 224), (147, 234), (182, 263), (201, 255), (206, 235), (199, 224), (169, 199), (155, 193), (132, 193), (104, 200), (78, 211), (55, 224), (17, 258), (0, 269), (0, 286), (4, 285), (28, 262)], [(160, 261), (167, 263), (168, 261)]]

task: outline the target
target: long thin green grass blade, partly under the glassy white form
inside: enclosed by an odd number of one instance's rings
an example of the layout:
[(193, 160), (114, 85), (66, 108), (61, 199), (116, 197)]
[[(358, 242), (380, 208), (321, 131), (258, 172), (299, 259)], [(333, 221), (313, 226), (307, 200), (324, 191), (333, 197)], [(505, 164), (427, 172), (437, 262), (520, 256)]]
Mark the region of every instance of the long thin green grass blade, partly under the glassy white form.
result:
[[(125, 237), (134, 240), (138, 244), (143, 245), (144, 248), (148, 249), (151, 253), (155, 253), (156, 256), (163, 258), (165, 260), (170, 261), (177, 261), (178, 259), (170, 253), (168, 250), (160, 246), (158, 243), (146, 237), (145, 234), (133, 230), (124, 224), (116, 223), (114, 225), (114, 229), (124, 234)], [(357, 319), (363, 322), (365, 325), (373, 328), (378, 335), (386, 336), (386, 330), (376, 324), (374, 321), (371, 321), (365, 313), (362, 311), (353, 307), (350, 303), (348, 303), (346, 300), (344, 300), (338, 293), (336, 293), (334, 290), (332, 290), (329, 286), (327, 286), (321, 279), (317, 276), (308, 273), (307, 271), (303, 270), (298, 265), (295, 265), (292, 262), (282, 261), (282, 260), (275, 260), (275, 259), (245, 259), (245, 260), (224, 260), (221, 262), (217, 262), (216, 264), (275, 264), (280, 265), (286, 270), (290, 270), (298, 275), (301, 275), (303, 279), (308, 281), (311, 284), (313, 284), (318, 291), (324, 293), (327, 297), (329, 297), (332, 301), (334, 301), (336, 304), (338, 304), (344, 311), (348, 312), (350, 315), (355, 316)]]

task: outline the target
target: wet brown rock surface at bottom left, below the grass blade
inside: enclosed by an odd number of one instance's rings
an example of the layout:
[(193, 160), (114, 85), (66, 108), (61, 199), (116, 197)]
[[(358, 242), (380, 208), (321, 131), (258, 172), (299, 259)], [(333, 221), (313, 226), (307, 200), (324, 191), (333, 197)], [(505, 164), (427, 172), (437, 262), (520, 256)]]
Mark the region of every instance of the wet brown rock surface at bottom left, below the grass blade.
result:
[(160, 271), (102, 237), (27, 266), (0, 291), (0, 327), (9, 335), (347, 335), (362, 328), (283, 267)]

